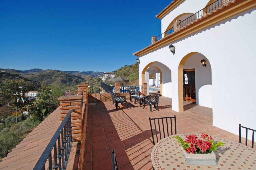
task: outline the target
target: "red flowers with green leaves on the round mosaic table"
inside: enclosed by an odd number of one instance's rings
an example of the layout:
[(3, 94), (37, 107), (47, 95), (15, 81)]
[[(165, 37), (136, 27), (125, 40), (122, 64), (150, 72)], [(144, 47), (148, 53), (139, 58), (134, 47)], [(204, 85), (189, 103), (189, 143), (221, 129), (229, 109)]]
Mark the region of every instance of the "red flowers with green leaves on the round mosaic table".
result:
[(187, 153), (212, 153), (212, 151), (218, 151), (217, 148), (225, 144), (214, 141), (205, 133), (202, 133), (201, 139), (198, 139), (197, 135), (186, 135), (185, 141), (180, 136), (174, 136), (174, 138), (178, 139), (177, 142), (181, 143)]

